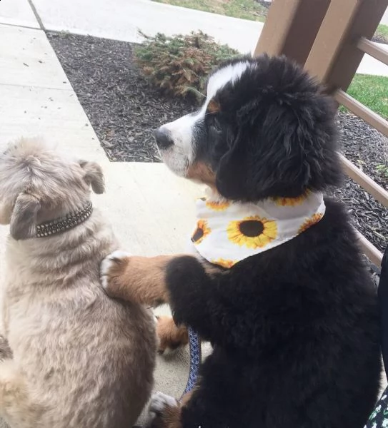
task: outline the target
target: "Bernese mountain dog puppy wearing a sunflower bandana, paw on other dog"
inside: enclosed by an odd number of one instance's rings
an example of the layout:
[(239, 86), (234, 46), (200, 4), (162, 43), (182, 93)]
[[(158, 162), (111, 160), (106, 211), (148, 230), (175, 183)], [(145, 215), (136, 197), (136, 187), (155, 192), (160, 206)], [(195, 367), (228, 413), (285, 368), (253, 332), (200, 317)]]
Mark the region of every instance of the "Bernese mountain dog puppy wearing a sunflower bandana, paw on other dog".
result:
[(113, 253), (101, 280), (114, 297), (169, 302), (214, 350), (183, 403), (154, 396), (151, 427), (367, 421), (382, 368), (377, 292), (347, 210), (322, 195), (342, 179), (334, 116), (302, 68), (262, 55), (219, 66), (199, 111), (156, 131), (166, 165), (211, 189), (196, 254)]

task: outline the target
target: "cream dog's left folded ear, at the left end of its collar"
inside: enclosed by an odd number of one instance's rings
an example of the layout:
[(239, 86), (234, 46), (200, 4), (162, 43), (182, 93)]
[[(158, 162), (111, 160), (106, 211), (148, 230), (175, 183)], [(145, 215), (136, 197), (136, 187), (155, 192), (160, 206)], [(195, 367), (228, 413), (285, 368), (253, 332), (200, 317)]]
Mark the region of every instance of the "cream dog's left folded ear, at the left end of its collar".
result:
[(10, 233), (12, 238), (29, 239), (36, 233), (36, 217), (41, 203), (29, 193), (19, 193), (11, 215)]

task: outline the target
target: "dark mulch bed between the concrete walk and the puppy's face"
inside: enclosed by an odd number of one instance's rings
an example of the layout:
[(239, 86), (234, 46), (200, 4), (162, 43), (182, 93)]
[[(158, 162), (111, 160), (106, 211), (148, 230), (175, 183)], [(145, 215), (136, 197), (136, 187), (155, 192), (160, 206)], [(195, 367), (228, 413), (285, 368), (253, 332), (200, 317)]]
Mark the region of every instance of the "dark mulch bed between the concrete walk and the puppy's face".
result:
[(129, 43), (47, 36), (109, 159), (159, 161), (152, 130), (193, 107), (151, 88), (134, 66)]

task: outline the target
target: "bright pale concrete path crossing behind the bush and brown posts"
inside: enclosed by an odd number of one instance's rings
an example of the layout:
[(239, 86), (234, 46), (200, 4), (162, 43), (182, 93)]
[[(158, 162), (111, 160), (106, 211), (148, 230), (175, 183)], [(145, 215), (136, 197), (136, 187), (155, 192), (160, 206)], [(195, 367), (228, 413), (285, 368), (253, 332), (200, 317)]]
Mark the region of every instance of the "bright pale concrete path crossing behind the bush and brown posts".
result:
[[(0, 15), (4, 1), (14, 0), (1, 1)], [(49, 30), (130, 42), (141, 41), (138, 29), (151, 36), (158, 32), (172, 35), (202, 30), (243, 54), (254, 50), (264, 25), (261, 22), (209, 14), (151, 0), (32, 1), (44, 27)], [(388, 46), (381, 46), (388, 51)], [(388, 66), (365, 55), (357, 73), (388, 76)]]

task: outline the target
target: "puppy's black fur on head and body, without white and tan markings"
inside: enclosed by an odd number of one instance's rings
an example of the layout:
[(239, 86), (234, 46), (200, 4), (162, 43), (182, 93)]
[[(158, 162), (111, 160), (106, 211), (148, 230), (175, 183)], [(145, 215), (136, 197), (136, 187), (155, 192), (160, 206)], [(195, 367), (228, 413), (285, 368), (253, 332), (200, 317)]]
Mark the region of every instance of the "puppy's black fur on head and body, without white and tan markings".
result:
[[(286, 58), (244, 61), (255, 66), (196, 133), (219, 193), (255, 201), (339, 183), (332, 101)], [(346, 211), (325, 202), (317, 225), (230, 270), (169, 265), (174, 320), (214, 344), (183, 428), (364, 426), (379, 390), (377, 296)]]

